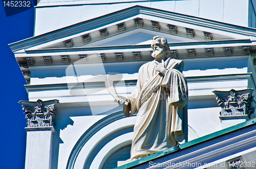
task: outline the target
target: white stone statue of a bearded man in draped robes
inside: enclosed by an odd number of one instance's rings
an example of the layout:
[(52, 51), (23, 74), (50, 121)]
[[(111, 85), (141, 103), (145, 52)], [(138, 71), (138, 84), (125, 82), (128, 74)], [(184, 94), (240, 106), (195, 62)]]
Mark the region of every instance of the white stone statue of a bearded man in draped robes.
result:
[[(137, 87), (128, 97), (118, 95), (124, 116), (138, 111), (131, 159), (139, 159), (177, 146), (187, 140), (187, 82), (181, 73), (183, 61), (166, 59), (167, 40), (154, 37), (154, 61), (139, 69)], [(127, 102), (129, 103), (128, 105)]]

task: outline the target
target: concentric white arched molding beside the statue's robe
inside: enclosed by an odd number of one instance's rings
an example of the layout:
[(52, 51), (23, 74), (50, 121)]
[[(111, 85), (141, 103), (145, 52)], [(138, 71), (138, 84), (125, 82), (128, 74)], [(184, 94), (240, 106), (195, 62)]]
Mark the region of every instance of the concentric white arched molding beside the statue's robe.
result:
[[(135, 116), (126, 118), (123, 111), (117, 111), (93, 124), (73, 147), (66, 168), (90, 168), (93, 162), (98, 161), (95, 157), (99, 152), (107, 155), (119, 147), (131, 144)], [(108, 147), (110, 152), (104, 151), (107, 150), (105, 145), (113, 145)], [(104, 163), (99, 161), (99, 164), (101, 162)]]

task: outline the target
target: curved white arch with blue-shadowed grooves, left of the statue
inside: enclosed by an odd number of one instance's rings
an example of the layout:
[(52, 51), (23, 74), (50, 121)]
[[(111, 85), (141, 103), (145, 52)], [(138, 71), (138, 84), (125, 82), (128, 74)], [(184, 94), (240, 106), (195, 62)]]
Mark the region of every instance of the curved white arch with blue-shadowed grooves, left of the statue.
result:
[[(86, 159), (83, 161), (83, 166), (88, 166), (93, 161), (94, 157), (97, 155), (100, 149), (104, 147), (105, 144), (109, 143), (111, 139), (133, 131), (135, 116), (136, 115), (130, 118), (126, 118), (123, 116), (123, 111), (121, 110), (114, 112), (93, 124), (86, 132), (84, 132), (81, 135), (81, 137), (78, 139), (77, 143), (73, 147), (66, 168), (73, 169), (75, 167), (75, 163), (79, 157), (79, 154), (82, 154), (81, 151), (84, 152), (85, 150), (83, 149), (84, 145), (86, 145), (90, 141), (90, 143), (94, 143), (94, 145), (90, 149), (90, 152), (87, 153), (90, 154), (90, 156), (86, 156)], [(124, 118), (126, 119), (122, 120)], [(115, 125), (114, 123), (117, 125)], [(113, 129), (113, 126), (117, 128)], [(111, 132), (105, 133), (96, 143), (93, 142), (94, 137), (97, 137), (97, 135), (102, 134), (103, 130), (108, 129), (111, 129)], [(130, 138), (127, 139), (129, 140)]]

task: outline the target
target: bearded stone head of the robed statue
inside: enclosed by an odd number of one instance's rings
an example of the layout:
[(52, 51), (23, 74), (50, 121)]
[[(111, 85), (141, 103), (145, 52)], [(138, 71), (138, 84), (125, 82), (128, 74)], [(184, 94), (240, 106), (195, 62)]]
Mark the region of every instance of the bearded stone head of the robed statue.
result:
[(155, 36), (151, 43), (151, 48), (153, 53), (151, 54), (153, 58), (160, 57), (162, 55), (167, 55), (170, 51), (167, 40), (164, 37)]

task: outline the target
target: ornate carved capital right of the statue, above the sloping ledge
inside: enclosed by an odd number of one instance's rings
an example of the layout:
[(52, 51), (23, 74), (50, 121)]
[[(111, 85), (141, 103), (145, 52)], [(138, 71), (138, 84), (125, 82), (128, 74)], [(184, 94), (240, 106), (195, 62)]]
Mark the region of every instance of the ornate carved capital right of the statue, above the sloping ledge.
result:
[(250, 118), (254, 112), (251, 105), (253, 89), (233, 90), (230, 91), (213, 91), (216, 95), (217, 103), (221, 106), (220, 115), (223, 116), (240, 116), (248, 115)]

